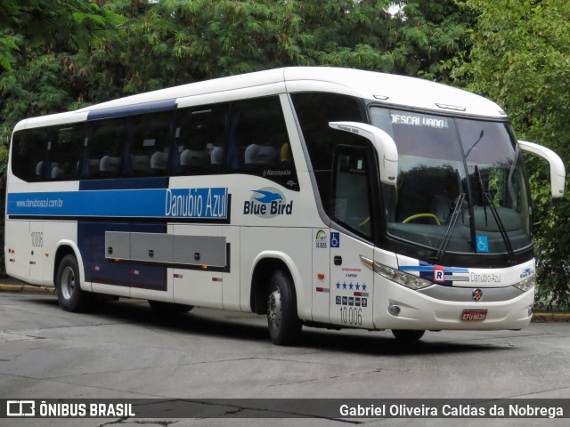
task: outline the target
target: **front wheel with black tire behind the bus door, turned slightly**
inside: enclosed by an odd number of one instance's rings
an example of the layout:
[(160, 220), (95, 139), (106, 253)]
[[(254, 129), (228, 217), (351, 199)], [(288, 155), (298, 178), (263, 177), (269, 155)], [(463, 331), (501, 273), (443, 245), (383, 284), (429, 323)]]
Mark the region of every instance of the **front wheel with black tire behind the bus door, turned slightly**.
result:
[(289, 274), (277, 270), (269, 281), (267, 326), (274, 344), (288, 345), (298, 341), (303, 326), (297, 315), (297, 298)]

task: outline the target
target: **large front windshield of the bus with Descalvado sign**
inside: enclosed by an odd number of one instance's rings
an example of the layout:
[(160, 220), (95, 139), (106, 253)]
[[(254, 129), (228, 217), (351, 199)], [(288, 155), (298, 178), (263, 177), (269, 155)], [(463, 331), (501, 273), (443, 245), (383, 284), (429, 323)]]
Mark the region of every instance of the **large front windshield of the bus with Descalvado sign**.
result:
[(384, 186), (387, 233), (444, 253), (512, 254), (531, 245), (529, 196), (509, 124), (371, 109), (398, 149)]

